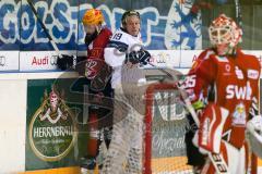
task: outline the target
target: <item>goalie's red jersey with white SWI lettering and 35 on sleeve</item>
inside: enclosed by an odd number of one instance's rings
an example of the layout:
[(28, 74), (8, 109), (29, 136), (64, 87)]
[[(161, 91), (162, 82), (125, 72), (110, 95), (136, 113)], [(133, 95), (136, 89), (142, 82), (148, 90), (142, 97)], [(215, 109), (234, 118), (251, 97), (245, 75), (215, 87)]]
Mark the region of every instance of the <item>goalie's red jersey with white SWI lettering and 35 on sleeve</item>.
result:
[(258, 59), (240, 49), (231, 58), (218, 57), (209, 49), (200, 54), (187, 77), (192, 103), (212, 94), (212, 100), (229, 111), (223, 139), (237, 148), (243, 146), (249, 110), (252, 100), (258, 100), (260, 69)]

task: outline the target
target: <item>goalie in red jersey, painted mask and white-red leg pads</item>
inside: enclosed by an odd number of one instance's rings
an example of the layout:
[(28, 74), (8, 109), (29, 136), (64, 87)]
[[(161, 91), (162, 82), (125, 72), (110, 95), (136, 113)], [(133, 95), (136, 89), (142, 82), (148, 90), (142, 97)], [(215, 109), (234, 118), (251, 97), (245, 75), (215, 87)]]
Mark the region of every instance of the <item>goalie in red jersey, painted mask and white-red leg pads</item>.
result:
[(199, 173), (219, 173), (207, 156), (217, 153), (228, 173), (245, 174), (249, 163), (246, 130), (261, 129), (262, 124), (260, 62), (237, 47), (242, 30), (225, 14), (212, 22), (209, 34), (212, 48), (199, 55), (183, 83), (200, 121), (196, 132), (186, 135), (188, 163)]

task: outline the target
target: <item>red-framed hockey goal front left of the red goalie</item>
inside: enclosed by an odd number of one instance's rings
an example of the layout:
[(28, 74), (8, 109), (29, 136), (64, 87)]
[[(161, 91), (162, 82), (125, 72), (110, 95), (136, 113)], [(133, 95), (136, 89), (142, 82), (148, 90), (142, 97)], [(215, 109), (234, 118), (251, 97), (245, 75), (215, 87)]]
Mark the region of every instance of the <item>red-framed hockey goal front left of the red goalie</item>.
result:
[[(189, 127), (184, 107), (174, 84), (152, 84), (146, 94), (143, 174), (191, 174), (187, 165), (184, 134)], [(171, 136), (170, 136), (171, 135)], [(250, 156), (249, 173), (257, 174)]]

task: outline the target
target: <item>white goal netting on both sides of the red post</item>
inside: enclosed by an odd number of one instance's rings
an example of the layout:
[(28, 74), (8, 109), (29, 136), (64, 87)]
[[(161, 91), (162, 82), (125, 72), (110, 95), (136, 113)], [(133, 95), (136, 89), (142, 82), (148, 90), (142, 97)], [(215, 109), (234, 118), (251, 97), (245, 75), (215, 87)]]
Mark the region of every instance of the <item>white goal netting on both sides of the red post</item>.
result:
[[(129, 98), (129, 102), (132, 100), (132, 103), (115, 102), (115, 116), (121, 119), (115, 122), (103, 174), (142, 174), (146, 167), (144, 162), (148, 160), (152, 173), (192, 173), (191, 167), (187, 165), (184, 134), (188, 122), (179, 91), (174, 86), (163, 87), (164, 89), (159, 87), (152, 91), (153, 100), (146, 101), (136, 98), (133, 92), (138, 91), (134, 90), (130, 90), (132, 92), (129, 95), (127, 91), (124, 95), (116, 94), (116, 99), (127, 101)], [(138, 109), (138, 105), (151, 110), (150, 113)], [(128, 116), (123, 116), (124, 114)], [(144, 120), (146, 114), (153, 119), (152, 122)], [(145, 140), (145, 125), (152, 126), (150, 141)], [(145, 156), (148, 146), (152, 147), (150, 157)]]

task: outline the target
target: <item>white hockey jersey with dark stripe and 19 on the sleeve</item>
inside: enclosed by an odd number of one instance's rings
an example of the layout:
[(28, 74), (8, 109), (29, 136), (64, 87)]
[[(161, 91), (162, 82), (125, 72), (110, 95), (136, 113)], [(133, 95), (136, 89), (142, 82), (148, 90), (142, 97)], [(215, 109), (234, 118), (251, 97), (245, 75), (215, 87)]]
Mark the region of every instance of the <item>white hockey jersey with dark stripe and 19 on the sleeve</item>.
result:
[[(118, 29), (111, 37), (107, 47), (105, 48), (105, 62), (114, 70), (111, 77), (111, 86), (116, 88), (121, 84), (122, 66), (124, 64), (126, 54), (131, 51), (139, 51), (143, 46), (141, 35), (136, 37), (129, 35), (122, 29)], [(138, 82), (145, 82), (145, 77), (141, 75), (136, 76)], [(133, 82), (130, 79), (130, 82)]]

